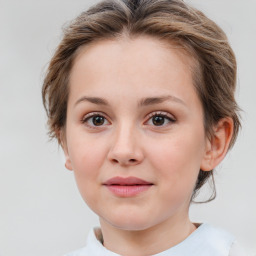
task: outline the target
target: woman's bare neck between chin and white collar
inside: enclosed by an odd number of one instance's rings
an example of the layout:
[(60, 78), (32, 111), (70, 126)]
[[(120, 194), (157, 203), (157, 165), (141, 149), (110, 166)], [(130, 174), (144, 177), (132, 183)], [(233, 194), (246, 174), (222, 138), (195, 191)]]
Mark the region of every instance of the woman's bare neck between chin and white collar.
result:
[(185, 240), (195, 229), (187, 216), (168, 219), (144, 230), (123, 230), (100, 219), (104, 246), (123, 256), (153, 255)]

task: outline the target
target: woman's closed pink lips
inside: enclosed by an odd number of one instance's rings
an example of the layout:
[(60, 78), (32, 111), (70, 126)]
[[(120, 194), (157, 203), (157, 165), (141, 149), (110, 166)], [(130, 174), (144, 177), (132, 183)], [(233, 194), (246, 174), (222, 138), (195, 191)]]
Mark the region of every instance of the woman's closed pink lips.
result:
[(104, 182), (103, 185), (116, 196), (132, 197), (148, 190), (153, 184), (136, 177), (114, 177)]

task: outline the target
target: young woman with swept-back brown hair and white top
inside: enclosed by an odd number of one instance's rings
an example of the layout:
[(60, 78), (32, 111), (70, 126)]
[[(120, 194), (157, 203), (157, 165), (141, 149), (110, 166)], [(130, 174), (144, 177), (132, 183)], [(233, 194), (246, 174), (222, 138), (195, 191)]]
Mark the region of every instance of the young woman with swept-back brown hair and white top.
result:
[(181, 0), (106, 0), (70, 24), (43, 101), (101, 227), (68, 255), (242, 255), (188, 215), (237, 137), (235, 87), (224, 32)]

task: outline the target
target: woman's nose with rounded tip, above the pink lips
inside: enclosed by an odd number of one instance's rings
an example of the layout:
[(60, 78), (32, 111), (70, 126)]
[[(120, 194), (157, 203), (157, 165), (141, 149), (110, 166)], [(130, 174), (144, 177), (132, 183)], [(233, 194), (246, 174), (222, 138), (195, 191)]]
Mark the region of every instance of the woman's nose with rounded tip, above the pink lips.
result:
[(121, 166), (133, 166), (143, 161), (144, 155), (138, 131), (127, 125), (117, 128), (108, 159)]

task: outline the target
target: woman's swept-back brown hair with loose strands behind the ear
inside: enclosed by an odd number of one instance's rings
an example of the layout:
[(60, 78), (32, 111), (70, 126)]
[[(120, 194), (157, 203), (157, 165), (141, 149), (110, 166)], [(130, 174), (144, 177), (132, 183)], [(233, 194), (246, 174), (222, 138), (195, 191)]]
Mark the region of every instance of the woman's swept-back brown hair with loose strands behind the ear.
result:
[[(225, 33), (202, 12), (182, 0), (104, 0), (83, 12), (64, 30), (45, 76), (42, 95), (48, 115), (50, 137), (60, 142), (65, 126), (69, 95), (69, 75), (81, 46), (102, 39), (149, 35), (179, 45), (196, 59), (194, 85), (204, 109), (205, 131), (223, 117), (231, 117), (233, 146), (239, 128), (238, 106), (234, 98), (236, 60)], [(193, 197), (212, 177), (213, 170), (200, 170)], [(211, 198), (215, 198), (215, 186)]]

